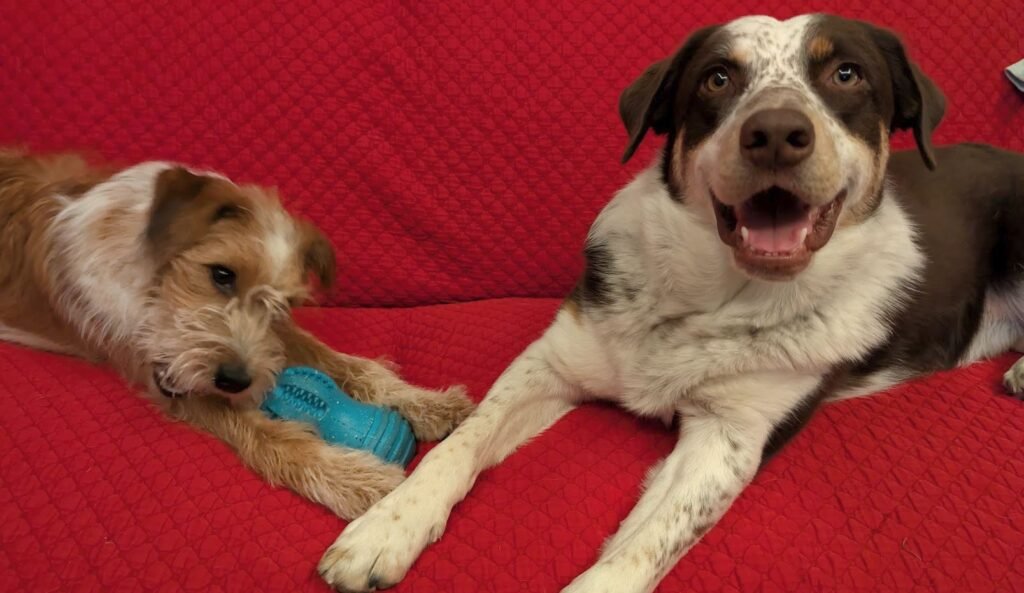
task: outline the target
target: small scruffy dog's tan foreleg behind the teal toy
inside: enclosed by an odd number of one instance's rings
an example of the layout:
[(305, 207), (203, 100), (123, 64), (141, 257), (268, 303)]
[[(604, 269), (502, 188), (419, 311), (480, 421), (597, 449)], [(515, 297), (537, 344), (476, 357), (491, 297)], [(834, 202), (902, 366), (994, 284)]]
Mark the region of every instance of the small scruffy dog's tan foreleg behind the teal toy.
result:
[(337, 352), (290, 322), (279, 335), (289, 365), (318, 369), (356, 399), (393, 408), (420, 440), (442, 438), (473, 411), (462, 387), (434, 391), (410, 385), (387, 365)]

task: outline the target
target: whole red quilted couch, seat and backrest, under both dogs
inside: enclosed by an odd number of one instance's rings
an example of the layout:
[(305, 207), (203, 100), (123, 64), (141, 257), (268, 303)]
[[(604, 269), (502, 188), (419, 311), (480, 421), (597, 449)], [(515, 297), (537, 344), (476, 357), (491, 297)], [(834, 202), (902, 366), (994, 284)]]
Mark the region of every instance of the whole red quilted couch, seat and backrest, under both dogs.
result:
[[(0, 2), (0, 142), (278, 184), (340, 255), (300, 317), (482, 397), (581, 269), (620, 91), (696, 26), (795, 0)], [(280, 5), (279, 5), (280, 4)], [(474, 7), (486, 4), (486, 7)], [(852, 0), (945, 89), (937, 140), (1024, 150), (1021, 0)], [(905, 139), (900, 139), (905, 145)], [(446, 304), (441, 304), (446, 303)], [(1024, 591), (1024, 405), (1005, 356), (827, 407), (658, 591)], [(111, 372), (0, 345), (0, 591), (325, 591), (343, 526)], [(573, 412), (485, 473), (399, 592), (554, 592), (673, 434)]]

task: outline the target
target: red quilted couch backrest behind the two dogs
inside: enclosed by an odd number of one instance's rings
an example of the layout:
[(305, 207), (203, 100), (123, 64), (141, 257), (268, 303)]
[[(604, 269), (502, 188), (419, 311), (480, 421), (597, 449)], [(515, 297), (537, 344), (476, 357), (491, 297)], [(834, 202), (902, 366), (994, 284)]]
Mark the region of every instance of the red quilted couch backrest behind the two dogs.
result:
[[(622, 89), (752, 2), (3, 0), (0, 142), (276, 185), (339, 252), (326, 301), (559, 296), (616, 187)], [(936, 138), (1024, 150), (1020, 0), (863, 0), (944, 88)], [(905, 139), (902, 140), (905, 144)]]

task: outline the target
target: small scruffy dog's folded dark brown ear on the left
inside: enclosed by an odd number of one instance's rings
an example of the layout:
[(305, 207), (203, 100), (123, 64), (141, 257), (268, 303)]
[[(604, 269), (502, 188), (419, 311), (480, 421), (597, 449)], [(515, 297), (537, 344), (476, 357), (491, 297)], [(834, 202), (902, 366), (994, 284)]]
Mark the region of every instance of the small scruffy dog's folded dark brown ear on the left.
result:
[(222, 179), (174, 167), (157, 176), (145, 241), (164, 264), (199, 243), (214, 222), (239, 216), (240, 196)]

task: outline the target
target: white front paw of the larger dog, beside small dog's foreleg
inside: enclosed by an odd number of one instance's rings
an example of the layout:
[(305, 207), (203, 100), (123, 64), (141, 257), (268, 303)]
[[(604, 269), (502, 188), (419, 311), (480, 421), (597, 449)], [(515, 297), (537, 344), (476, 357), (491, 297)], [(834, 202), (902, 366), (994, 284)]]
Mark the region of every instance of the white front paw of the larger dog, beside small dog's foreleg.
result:
[(434, 521), (422, 509), (402, 508), (400, 500), (387, 498), (345, 527), (317, 568), (337, 591), (387, 589), (401, 581), (442, 528), (443, 519)]

